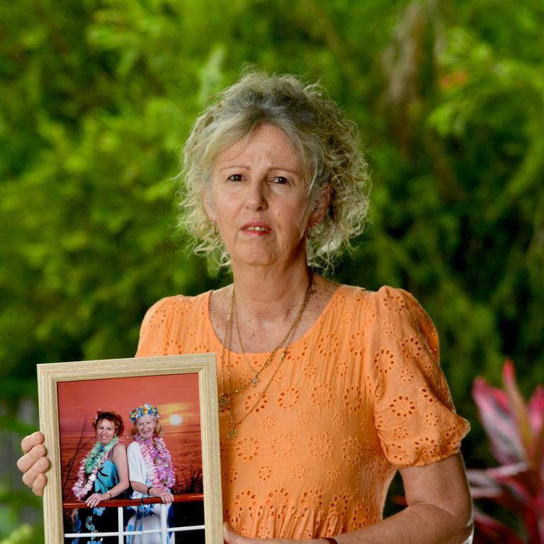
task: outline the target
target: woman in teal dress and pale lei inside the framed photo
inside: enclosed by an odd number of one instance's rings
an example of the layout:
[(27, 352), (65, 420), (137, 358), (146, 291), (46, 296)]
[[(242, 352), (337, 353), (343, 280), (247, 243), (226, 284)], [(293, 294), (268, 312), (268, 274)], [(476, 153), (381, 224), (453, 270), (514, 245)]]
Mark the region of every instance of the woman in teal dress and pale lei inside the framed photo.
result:
[[(74, 511), (74, 533), (106, 533), (117, 530), (117, 509), (98, 506), (128, 489), (127, 451), (120, 443), (123, 419), (117, 412), (98, 410), (93, 420), (96, 443), (79, 465), (77, 480), (72, 487), (74, 497), (89, 508)], [(81, 542), (117, 542), (116, 537), (74, 538)]]

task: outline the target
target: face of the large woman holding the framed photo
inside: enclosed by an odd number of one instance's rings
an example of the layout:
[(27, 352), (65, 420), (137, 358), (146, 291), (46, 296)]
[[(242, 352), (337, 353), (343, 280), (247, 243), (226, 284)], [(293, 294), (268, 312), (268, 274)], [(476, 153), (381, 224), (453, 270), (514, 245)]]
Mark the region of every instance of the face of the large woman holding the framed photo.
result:
[(306, 229), (324, 208), (312, 210), (305, 172), (284, 132), (272, 125), (215, 157), (204, 200), (233, 266), (305, 259)]

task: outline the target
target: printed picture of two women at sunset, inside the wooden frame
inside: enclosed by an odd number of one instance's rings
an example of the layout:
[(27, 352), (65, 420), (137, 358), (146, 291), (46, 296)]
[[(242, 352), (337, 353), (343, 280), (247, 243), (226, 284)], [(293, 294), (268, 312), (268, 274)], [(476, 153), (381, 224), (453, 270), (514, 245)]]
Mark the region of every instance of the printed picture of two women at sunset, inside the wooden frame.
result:
[[(86, 412), (89, 399), (81, 395), (93, 382), (59, 384), (65, 543), (118, 543), (122, 520), (126, 544), (174, 544), (172, 528), (203, 523), (196, 379), (188, 374), (98, 380), (100, 402), (115, 409), (103, 404), (94, 413)], [(128, 393), (119, 394), (120, 382)], [(180, 385), (186, 394), (176, 392)], [(146, 390), (148, 397), (167, 402), (135, 402), (123, 410)], [(198, 542), (200, 533), (188, 534)]]

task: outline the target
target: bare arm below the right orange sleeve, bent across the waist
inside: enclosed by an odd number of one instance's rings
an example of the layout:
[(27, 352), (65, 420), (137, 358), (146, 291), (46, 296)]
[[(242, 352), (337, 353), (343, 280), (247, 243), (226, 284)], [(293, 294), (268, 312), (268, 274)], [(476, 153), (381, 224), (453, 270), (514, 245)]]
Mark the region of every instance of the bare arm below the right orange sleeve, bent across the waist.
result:
[[(338, 544), (461, 544), (472, 531), (472, 502), (460, 454), (399, 471), (408, 506), (359, 531), (334, 536)], [(285, 538), (246, 538), (225, 527), (226, 544), (289, 544)], [(322, 538), (306, 540), (322, 543)]]

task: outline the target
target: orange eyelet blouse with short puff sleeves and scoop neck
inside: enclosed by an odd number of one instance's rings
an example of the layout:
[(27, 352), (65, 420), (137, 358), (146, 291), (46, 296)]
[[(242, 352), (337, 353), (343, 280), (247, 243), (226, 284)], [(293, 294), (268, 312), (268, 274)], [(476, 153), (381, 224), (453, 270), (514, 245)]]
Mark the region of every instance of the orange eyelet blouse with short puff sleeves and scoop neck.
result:
[[(159, 300), (142, 324), (137, 356), (217, 354), (210, 293)], [(229, 353), (232, 387), (269, 353)], [(276, 370), (280, 353), (235, 397), (240, 419)], [(404, 290), (341, 285), (288, 350), (266, 395), (227, 438), (220, 412), (223, 508), (234, 530), (260, 538), (317, 538), (382, 519), (397, 467), (459, 449), (470, 426), (455, 414), (429, 316)]]

